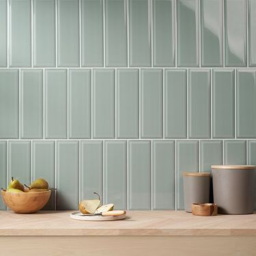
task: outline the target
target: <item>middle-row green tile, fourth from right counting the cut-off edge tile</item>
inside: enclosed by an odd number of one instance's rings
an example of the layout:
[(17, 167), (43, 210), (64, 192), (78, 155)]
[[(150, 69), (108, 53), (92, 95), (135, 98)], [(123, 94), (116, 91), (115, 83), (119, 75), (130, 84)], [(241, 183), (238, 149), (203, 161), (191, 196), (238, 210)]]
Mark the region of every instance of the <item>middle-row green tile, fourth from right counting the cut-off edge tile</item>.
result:
[(186, 138), (186, 70), (165, 70), (165, 138)]

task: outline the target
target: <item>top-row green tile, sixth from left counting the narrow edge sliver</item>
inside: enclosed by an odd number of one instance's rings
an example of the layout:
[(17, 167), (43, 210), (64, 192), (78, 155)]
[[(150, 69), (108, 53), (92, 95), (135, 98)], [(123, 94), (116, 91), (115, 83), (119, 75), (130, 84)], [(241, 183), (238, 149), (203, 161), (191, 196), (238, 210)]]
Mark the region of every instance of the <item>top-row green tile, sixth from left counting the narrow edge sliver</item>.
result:
[(107, 67), (127, 67), (126, 1), (105, 1), (105, 57)]

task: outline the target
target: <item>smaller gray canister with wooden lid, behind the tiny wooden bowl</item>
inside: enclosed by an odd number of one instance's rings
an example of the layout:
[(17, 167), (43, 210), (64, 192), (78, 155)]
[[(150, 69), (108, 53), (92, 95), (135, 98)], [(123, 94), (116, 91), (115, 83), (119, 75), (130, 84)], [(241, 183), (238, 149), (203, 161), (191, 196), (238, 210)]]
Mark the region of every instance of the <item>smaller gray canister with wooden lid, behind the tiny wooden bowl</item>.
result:
[(210, 173), (183, 173), (183, 186), (186, 212), (193, 203), (209, 203)]

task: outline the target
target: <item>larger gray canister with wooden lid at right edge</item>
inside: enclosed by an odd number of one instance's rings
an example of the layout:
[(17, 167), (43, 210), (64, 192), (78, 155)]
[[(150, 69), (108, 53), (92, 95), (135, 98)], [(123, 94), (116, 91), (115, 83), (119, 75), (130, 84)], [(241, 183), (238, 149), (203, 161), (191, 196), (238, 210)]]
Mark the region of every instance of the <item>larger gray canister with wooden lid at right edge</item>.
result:
[(253, 213), (254, 165), (212, 165), (214, 203), (221, 214)]

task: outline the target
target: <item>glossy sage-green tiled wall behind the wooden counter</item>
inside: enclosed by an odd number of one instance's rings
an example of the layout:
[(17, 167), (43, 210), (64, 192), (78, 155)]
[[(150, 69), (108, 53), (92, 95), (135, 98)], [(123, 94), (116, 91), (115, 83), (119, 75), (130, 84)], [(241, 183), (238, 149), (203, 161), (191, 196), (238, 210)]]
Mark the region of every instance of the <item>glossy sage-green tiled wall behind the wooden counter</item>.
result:
[(255, 15), (256, 0), (0, 0), (0, 185), (45, 177), (50, 210), (94, 192), (182, 210), (182, 171), (255, 164)]

